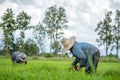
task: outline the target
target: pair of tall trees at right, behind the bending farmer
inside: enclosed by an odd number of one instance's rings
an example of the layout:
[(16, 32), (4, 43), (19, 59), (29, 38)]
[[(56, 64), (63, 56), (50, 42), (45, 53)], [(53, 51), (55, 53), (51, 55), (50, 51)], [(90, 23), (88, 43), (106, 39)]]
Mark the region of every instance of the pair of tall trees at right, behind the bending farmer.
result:
[(115, 11), (115, 16), (112, 11), (106, 11), (105, 17), (101, 20), (95, 29), (98, 34), (97, 42), (99, 46), (105, 46), (106, 55), (108, 51), (116, 50), (118, 57), (120, 49), (120, 10)]

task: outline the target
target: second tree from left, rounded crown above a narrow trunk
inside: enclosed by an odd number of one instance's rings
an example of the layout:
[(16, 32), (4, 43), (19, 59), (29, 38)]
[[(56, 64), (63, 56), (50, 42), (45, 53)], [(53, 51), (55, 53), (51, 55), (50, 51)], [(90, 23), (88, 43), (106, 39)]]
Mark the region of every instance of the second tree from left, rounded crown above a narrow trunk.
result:
[(25, 33), (24, 31), (29, 29), (31, 17), (27, 15), (24, 11), (20, 12), (16, 18), (16, 27), (20, 31), (20, 37), (17, 39), (18, 50), (25, 52)]

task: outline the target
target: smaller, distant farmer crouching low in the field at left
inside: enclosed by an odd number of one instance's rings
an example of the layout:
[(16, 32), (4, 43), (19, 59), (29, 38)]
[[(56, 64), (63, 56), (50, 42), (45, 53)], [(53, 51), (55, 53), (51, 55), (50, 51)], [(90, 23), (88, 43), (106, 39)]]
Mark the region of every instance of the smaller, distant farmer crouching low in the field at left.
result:
[(12, 63), (24, 63), (27, 64), (27, 55), (20, 51), (12, 52), (11, 54)]

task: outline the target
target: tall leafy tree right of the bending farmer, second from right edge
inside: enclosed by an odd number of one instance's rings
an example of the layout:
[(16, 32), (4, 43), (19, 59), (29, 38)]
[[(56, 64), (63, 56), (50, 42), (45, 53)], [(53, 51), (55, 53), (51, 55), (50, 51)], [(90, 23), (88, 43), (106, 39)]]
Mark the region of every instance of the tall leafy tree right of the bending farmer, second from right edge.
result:
[(110, 48), (110, 45), (112, 44), (112, 19), (111, 19), (112, 12), (109, 11), (105, 14), (105, 18), (103, 21), (100, 21), (97, 24), (97, 28), (95, 31), (98, 33), (99, 38), (97, 39), (97, 42), (99, 42), (99, 46), (105, 45), (105, 51), (106, 55), (108, 55), (108, 49)]

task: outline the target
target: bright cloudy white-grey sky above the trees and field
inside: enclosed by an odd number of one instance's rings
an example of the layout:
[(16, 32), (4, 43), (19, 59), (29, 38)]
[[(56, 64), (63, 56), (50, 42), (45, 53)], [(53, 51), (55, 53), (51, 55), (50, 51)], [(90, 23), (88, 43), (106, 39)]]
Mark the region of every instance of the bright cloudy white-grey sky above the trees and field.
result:
[[(0, 17), (7, 8), (12, 8), (15, 14), (25, 11), (32, 17), (31, 24), (36, 25), (42, 22), (46, 9), (53, 5), (65, 8), (68, 29), (64, 30), (64, 37), (76, 36), (79, 42), (98, 46), (98, 36), (94, 31), (97, 23), (104, 19), (106, 11), (120, 9), (120, 0), (0, 0)], [(26, 33), (32, 34), (32, 31)], [(100, 50), (104, 54), (104, 47), (100, 47)]]

